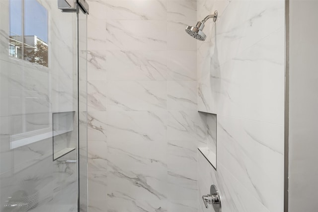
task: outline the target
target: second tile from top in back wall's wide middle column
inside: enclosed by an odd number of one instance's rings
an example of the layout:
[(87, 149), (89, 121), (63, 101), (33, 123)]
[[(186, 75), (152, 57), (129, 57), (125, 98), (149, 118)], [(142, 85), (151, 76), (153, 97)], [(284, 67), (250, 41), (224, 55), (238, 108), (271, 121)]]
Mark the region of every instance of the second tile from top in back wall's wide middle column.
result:
[(166, 50), (166, 21), (107, 20), (107, 50)]

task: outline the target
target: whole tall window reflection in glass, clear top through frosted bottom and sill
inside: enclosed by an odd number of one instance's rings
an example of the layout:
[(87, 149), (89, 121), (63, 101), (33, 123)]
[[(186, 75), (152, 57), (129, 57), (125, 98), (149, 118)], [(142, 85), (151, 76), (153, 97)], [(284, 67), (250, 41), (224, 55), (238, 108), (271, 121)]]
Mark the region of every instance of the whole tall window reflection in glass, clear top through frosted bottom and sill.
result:
[(37, 0), (9, 0), (8, 105), (11, 148), (52, 136), (48, 10)]

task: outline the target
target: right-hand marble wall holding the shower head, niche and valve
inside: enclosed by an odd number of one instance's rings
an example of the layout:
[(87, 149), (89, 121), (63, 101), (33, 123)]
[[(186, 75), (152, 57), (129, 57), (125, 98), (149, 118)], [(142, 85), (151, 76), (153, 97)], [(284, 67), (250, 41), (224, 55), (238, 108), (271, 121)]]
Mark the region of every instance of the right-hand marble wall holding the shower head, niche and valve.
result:
[(197, 42), (198, 109), (217, 114), (217, 171), (199, 155), (198, 198), (216, 184), (222, 212), (283, 211), (284, 4), (197, 1), (199, 20), (219, 11)]

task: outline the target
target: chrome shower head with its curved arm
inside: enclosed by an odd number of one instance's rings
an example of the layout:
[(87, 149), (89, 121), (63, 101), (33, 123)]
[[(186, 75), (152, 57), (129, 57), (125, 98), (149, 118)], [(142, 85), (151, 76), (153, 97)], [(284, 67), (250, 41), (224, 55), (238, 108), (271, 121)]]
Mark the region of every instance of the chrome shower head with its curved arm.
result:
[(198, 21), (195, 26), (187, 26), (185, 28), (186, 33), (188, 33), (190, 36), (194, 37), (195, 39), (198, 39), (199, 41), (204, 41), (207, 37), (205, 33), (202, 31), (204, 28), (204, 23), (210, 19), (213, 18), (213, 21), (216, 22), (218, 17), (218, 11), (215, 10), (214, 14), (206, 16), (202, 21)]

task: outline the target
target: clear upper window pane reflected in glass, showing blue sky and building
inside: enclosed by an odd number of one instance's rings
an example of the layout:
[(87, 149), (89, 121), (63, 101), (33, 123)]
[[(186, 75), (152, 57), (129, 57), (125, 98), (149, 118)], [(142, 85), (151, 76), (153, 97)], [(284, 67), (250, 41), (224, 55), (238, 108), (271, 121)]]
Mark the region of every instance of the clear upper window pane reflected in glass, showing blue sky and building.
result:
[(9, 55), (48, 67), (48, 11), (37, 0), (9, 0)]

